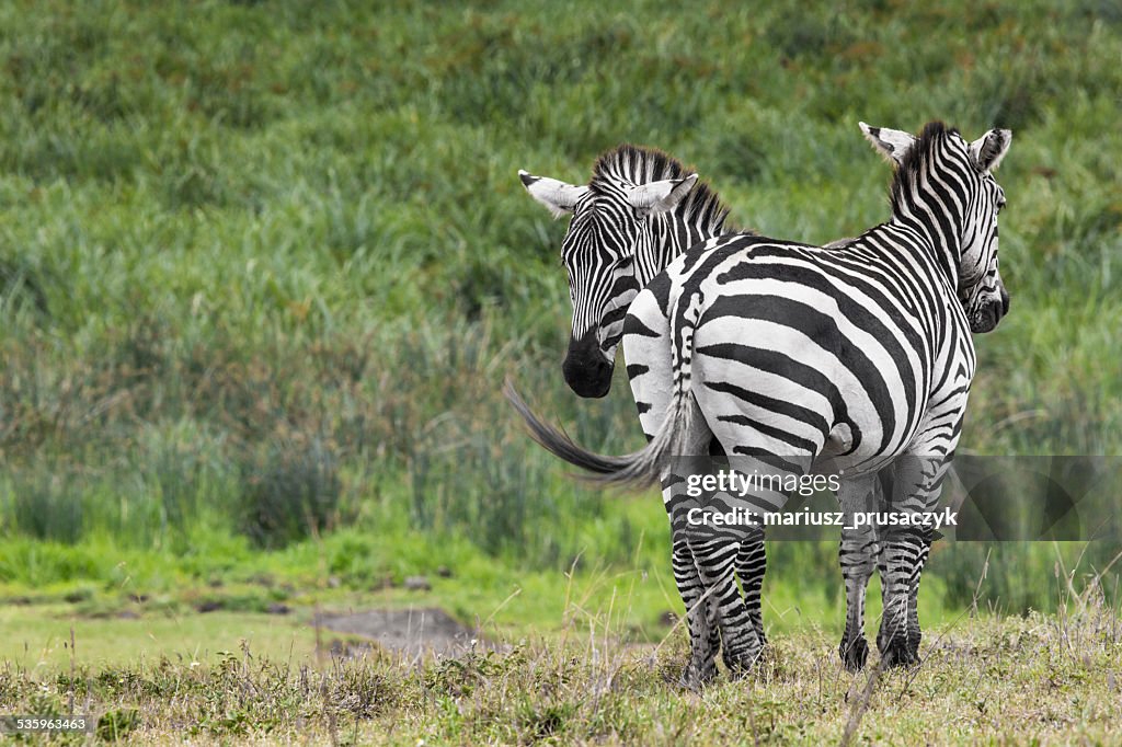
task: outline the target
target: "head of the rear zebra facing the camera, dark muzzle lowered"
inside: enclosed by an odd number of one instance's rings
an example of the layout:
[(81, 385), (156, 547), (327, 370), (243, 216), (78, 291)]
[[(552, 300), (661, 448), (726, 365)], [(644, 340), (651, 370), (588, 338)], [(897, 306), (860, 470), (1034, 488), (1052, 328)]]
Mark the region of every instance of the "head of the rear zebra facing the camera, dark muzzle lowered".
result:
[[(664, 218), (683, 204), (698, 176), (661, 153), (634, 146), (601, 156), (586, 186), (518, 175), (554, 218), (572, 215), (561, 243), (572, 302), (572, 335), (562, 371), (581, 397), (603, 397), (611, 387), (628, 305), (677, 253), (668, 255), (677, 231)], [(718, 223), (724, 220), (726, 211), (715, 196), (703, 203), (707, 220), (714, 214)]]

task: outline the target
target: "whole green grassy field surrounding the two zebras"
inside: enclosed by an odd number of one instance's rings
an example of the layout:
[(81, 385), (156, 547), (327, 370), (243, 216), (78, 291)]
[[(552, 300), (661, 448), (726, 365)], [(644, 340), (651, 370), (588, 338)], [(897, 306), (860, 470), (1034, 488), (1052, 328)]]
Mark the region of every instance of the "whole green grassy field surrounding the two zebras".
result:
[[(603, 150), (653, 145), (739, 224), (827, 241), (888, 215), (889, 169), (858, 120), (1009, 127), (1012, 311), (977, 340), (963, 451), (1122, 454), (1120, 56), (1122, 13), (1101, 0), (0, 2), (0, 712), (68, 671), (73, 627), (82, 682), (136, 682), (83, 685), (90, 702), (141, 708), (140, 734), (291, 736), (284, 699), (314, 690), (359, 703), (307, 716), (324, 739), (359, 716), (360, 740), (674, 741), (718, 713), (738, 719), (723, 739), (837, 738), (852, 682), (808, 679), (834, 667), (833, 545), (772, 548), (781, 648), (751, 688), (691, 700), (631, 649), (606, 670), (559, 639), (571, 583), (582, 619), (615, 610), (606, 640), (672, 635), (670, 661), (680, 602), (657, 498), (573, 482), (498, 394), (512, 376), (587, 445), (642, 443), (622, 380), (595, 404), (561, 380), (564, 227), (516, 172), (582, 182)], [(1063, 612), (1067, 569), (1118, 552), (937, 546), (923, 619), (988, 653), (892, 674), (877, 692), (902, 710), (874, 698), (858, 734), (880, 741), (898, 716), (927, 734), (927, 704), (963, 729), (950, 740), (1003, 722), (1102, 739), (1116, 637), (1086, 634), (1084, 661), (1064, 618), (1020, 616)], [(432, 589), (405, 590), (413, 575)], [(995, 616), (956, 622), (976, 597)], [(439, 684), (460, 665), (316, 665), (316, 609), (408, 605), (540, 643), (461, 662), (479, 697)], [(997, 708), (1017, 683), (1026, 710)], [(167, 695), (180, 686), (192, 694)], [(279, 700), (234, 726), (176, 711), (223, 688)], [(628, 699), (657, 717), (641, 726)]]

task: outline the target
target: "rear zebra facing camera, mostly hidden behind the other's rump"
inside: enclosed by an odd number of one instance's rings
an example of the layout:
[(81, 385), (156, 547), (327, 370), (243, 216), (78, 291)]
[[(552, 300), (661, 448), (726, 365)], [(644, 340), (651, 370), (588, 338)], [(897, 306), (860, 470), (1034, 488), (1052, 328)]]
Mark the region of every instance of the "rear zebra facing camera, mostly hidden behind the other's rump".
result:
[[(562, 242), (562, 261), (569, 275), (573, 306), (569, 351), (562, 366), (565, 381), (578, 395), (605, 396), (611, 384), (615, 350), (623, 331), (623, 316), (638, 290), (688, 247), (736, 231), (728, 223), (728, 209), (696, 173), (653, 148), (622, 145), (601, 155), (586, 186), (519, 170), (530, 195), (554, 218), (571, 214)], [(744, 232), (743, 230), (741, 231)], [(845, 246), (852, 239), (826, 245)], [(635, 380), (647, 376), (642, 365), (628, 365), (641, 418), (651, 404), (638, 397)], [(644, 428), (650, 437), (654, 426)], [(714, 443), (719, 449), (719, 444)], [(664, 486), (668, 514), (677, 506)], [(701, 596), (692, 555), (680, 533), (672, 532), (675, 583), (687, 610)], [(761, 640), (766, 640), (761, 614), (761, 587), (766, 570), (762, 536), (745, 542), (737, 555), (737, 574), (745, 603)], [(712, 610), (709, 618), (712, 619)], [(717, 630), (706, 635), (717, 645)], [(728, 664), (732, 664), (730, 662)]]

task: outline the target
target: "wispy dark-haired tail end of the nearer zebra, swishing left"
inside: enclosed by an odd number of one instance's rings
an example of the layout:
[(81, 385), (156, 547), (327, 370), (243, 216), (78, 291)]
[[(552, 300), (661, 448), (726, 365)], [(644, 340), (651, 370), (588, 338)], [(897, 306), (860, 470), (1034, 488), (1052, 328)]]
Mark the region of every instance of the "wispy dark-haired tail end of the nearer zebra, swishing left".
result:
[(589, 451), (574, 443), (568, 434), (555, 426), (543, 422), (525, 403), (509, 379), (503, 386), (503, 394), (522, 415), (522, 419), (530, 428), (531, 437), (551, 454), (595, 473), (596, 477), (589, 478), (592, 482), (636, 490), (659, 481), (666, 468), (666, 459), (680, 451), (692, 412), (689, 403), (690, 393), (679, 389), (654, 437), (636, 452), (614, 457)]

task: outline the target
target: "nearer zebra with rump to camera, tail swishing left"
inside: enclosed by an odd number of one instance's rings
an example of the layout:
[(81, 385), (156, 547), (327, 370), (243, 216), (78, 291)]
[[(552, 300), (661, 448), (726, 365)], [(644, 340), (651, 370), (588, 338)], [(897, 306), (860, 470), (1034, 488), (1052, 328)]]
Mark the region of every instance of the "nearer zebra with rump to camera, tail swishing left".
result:
[[(992, 172), (1012, 133), (992, 129), (967, 142), (938, 121), (918, 137), (864, 122), (861, 129), (896, 165), (888, 222), (830, 251), (725, 234), (680, 256), (636, 296), (624, 322), (628, 365), (653, 375), (633, 380), (636, 399), (652, 403), (647, 445), (625, 457), (594, 454), (508, 387), (534, 437), (607, 482), (666, 482), (675, 477), (672, 454), (703, 455), (716, 440), (726, 453), (783, 474), (830, 463), (845, 474), (843, 509), (868, 501), (881, 481), (891, 483), (900, 514), (934, 506), (976, 366), (971, 334), (993, 330), (1009, 312), (997, 264), (1005, 196)], [(757, 494), (765, 505), (782, 502)], [(727, 507), (728, 496), (715, 502)], [(714, 622), (735, 672), (749, 671), (763, 648), (732, 577), (738, 543), (756, 531), (683, 527), (712, 600), (690, 615), (688, 684), (715, 675)], [(919, 663), (917, 599), (930, 543), (926, 526), (843, 531), (839, 653), (850, 668), (867, 655), (864, 592), (874, 557), (884, 598), (882, 665)]]

